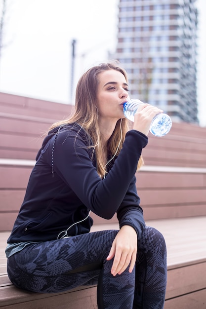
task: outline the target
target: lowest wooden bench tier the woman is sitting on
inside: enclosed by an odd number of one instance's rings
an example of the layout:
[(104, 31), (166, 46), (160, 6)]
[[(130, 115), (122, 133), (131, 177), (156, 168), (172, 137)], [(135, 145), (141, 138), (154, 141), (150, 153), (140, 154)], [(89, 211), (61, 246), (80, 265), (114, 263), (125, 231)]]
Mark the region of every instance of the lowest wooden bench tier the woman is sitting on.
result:
[[(167, 245), (165, 309), (206, 308), (205, 223), (206, 217), (147, 221), (147, 225), (164, 234)], [(118, 224), (94, 225), (92, 231), (107, 229), (118, 229)], [(96, 286), (58, 294), (39, 294), (15, 288), (6, 274), (4, 250), (8, 235), (9, 232), (0, 233), (0, 308), (97, 308)]]

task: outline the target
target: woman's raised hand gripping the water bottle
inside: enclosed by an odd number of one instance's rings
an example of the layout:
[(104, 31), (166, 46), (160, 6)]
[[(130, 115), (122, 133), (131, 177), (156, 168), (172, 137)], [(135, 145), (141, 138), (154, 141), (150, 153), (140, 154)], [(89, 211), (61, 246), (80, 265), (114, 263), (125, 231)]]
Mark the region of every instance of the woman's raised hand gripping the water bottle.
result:
[(150, 125), (152, 123), (153, 118), (157, 114), (163, 113), (163, 110), (152, 106), (150, 104), (141, 104), (138, 107), (137, 112), (134, 115), (133, 129), (137, 130), (146, 136), (149, 133)]

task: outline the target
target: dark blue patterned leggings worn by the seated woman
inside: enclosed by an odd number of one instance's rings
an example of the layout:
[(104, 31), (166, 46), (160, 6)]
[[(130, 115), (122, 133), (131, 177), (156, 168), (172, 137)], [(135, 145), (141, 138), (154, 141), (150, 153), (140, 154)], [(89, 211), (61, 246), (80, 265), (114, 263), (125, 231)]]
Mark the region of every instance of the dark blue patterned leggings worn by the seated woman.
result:
[(99, 309), (162, 309), (166, 289), (163, 235), (146, 227), (138, 240), (136, 266), (115, 277), (106, 258), (118, 231), (91, 232), (34, 243), (8, 258), (13, 284), (39, 293), (63, 292), (97, 285)]

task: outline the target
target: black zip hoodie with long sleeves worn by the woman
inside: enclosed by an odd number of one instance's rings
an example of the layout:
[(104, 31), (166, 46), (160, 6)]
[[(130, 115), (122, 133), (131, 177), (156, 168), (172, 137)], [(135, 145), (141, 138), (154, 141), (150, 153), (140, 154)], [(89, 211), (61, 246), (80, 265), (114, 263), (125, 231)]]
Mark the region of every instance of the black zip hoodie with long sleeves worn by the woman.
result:
[(135, 172), (147, 141), (136, 130), (127, 132), (121, 153), (101, 179), (91, 139), (78, 124), (51, 130), (37, 155), (8, 243), (54, 240), (71, 226), (68, 236), (89, 232), (93, 221), (84, 220), (89, 210), (105, 219), (117, 212), (120, 228), (130, 225), (140, 237), (145, 223)]

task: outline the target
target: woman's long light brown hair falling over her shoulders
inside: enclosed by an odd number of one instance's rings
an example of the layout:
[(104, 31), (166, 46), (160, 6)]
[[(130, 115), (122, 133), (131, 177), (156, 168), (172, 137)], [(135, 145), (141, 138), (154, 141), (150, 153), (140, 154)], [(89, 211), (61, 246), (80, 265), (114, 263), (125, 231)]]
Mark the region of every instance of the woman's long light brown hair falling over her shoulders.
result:
[[(118, 62), (102, 63), (94, 66), (86, 71), (80, 78), (75, 99), (74, 114), (68, 119), (55, 122), (50, 129), (59, 125), (70, 124), (77, 122), (89, 134), (93, 142), (93, 151), (97, 160), (97, 172), (99, 175), (105, 175), (106, 169), (104, 166), (103, 153), (102, 153), (102, 138), (99, 131), (98, 124), (98, 109), (97, 109), (97, 90), (98, 90), (98, 75), (106, 70), (116, 70), (122, 73), (128, 82), (126, 72), (121, 68)], [(122, 134), (121, 134), (122, 130)], [(127, 119), (123, 118), (122, 121), (117, 121), (116, 127), (112, 136), (108, 141), (108, 152), (118, 155), (123, 147), (126, 132), (128, 131)], [(119, 147), (118, 147), (119, 146)], [(142, 156), (139, 159), (137, 169), (143, 164)]]

